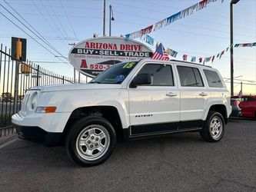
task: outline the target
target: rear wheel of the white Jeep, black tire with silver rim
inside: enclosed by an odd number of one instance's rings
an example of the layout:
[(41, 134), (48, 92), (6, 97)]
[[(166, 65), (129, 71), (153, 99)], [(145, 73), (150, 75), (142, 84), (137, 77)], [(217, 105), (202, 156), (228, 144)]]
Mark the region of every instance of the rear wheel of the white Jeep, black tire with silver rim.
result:
[[(211, 123), (216, 123), (212, 125)], [(221, 127), (218, 127), (218, 123)], [(224, 118), (217, 111), (209, 111), (208, 117), (204, 122), (203, 129), (200, 131), (204, 141), (218, 142), (224, 136)]]

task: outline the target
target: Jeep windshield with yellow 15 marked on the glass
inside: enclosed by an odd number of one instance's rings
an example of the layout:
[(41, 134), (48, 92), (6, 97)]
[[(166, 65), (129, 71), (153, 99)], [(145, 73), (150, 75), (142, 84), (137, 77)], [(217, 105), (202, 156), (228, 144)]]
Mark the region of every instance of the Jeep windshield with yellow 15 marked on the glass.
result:
[(121, 84), (137, 64), (138, 61), (132, 61), (113, 65), (111, 68), (108, 68), (96, 78), (92, 79), (90, 83)]

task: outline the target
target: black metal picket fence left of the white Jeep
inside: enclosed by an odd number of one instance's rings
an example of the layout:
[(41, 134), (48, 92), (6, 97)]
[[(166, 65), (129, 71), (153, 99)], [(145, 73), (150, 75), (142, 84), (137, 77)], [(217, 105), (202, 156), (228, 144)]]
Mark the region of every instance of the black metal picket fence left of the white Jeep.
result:
[(24, 94), (29, 88), (78, 82), (48, 71), (31, 61), (16, 61), (12, 58), (11, 50), (3, 48), (3, 45), (0, 48), (0, 61), (0, 127), (11, 124), (12, 114), (20, 110)]

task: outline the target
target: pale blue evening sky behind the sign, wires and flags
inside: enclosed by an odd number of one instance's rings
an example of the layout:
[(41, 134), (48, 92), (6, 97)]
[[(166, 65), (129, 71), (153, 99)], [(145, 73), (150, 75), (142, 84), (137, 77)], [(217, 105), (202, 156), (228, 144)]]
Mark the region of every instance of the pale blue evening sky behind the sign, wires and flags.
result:
[[(68, 57), (71, 46), (68, 43), (91, 38), (94, 33), (102, 35), (103, 0), (5, 0), (22, 15), (42, 36), (44, 36), (62, 55)], [(1, 4), (12, 10), (0, 0)], [(155, 24), (163, 18), (175, 14), (198, 0), (169, 1), (123, 1), (106, 0), (106, 34), (108, 35), (109, 9), (111, 4), (115, 21), (111, 22), (111, 35), (119, 36), (138, 31)], [(165, 47), (178, 51), (178, 59), (183, 54), (196, 57), (217, 55), (229, 46), (229, 0), (208, 4), (201, 11), (151, 33)], [(15, 21), (11, 15), (0, 8), (0, 12)], [(13, 12), (13, 11), (12, 11)], [(18, 22), (15, 22), (18, 24)], [(18, 24), (19, 25), (19, 24)], [(22, 28), (24, 26), (20, 25)], [(26, 30), (28, 31), (28, 30)], [(29, 34), (31, 32), (28, 31)], [(0, 42), (11, 47), (11, 37), (28, 38), (28, 56), (31, 61), (55, 61), (57, 63), (38, 63), (58, 74), (72, 76), (72, 68), (61, 62), (36, 43), (23, 31), (0, 15)], [(35, 35), (32, 35), (35, 37)], [(256, 41), (256, 1), (241, 0), (234, 5), (234, 43)], [(151, 47), (152, 48), (152, 47)], [(152, 48), (153, 49), (153, 48)], [(57, 53), (55, 55), (58, 55)], [(225, 53), (221, 60), (208, 63), (218, 68), (224, 78), (230, 77), (230, 55)], [(256, 48), (234, 48), (234, 77), (256, 81)], [(239, 81), (236, 81), (239, 82)], [(244, 81), (248, 83), (248, 81)], [(230, 86), (227, 83), (228, 87)], [(234, 84), (234, 92), (240, 85)], [(256, 93), (255, 85), (244, 85), (245, 92)]]

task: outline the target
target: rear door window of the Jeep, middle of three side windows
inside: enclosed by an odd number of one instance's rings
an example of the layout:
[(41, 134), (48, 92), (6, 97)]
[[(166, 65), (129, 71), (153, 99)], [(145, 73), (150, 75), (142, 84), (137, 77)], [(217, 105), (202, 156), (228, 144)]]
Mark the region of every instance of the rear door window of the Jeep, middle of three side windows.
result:
[(204, 87), (201, 74), (198, 68), (177, 66), (181, 86), (183, 87)]

